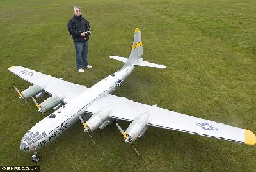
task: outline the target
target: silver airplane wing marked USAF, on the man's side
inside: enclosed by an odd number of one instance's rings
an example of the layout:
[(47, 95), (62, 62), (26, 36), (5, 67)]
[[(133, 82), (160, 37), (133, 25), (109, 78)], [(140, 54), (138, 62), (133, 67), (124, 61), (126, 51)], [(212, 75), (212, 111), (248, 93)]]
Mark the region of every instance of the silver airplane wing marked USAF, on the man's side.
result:
[(38, 84), (49, 95), (64, 97), (62, 101), (65, 104), (88, 89), (85, 86), (63, 81), (62, 79), (45, 75), (22, 66), (12, 66), (8, 70), (33, 85)]

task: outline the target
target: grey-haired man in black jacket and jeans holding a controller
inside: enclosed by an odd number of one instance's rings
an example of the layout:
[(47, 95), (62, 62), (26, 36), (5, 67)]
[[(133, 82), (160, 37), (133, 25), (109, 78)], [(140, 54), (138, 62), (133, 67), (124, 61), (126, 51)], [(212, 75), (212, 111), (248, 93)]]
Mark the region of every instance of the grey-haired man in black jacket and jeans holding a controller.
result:
[(67, 27), (76, 48), (77, 70), (84, 72), (83, 68), (92, 68), (87, 61), (88, 40), (91, 31), (88, 20), (81, 15), (80, 6), (74, 6), (74, 15), (68, 20)]

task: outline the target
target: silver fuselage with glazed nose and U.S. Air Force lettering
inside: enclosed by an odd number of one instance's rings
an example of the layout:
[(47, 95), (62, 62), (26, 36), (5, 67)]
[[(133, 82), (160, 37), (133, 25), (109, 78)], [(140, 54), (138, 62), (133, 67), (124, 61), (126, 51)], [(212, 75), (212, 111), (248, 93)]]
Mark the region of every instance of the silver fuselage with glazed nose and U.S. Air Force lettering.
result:
[(61, 133), (79, 120), (79, 115), (83, 116), (90, 104), (115, 91), (134, 68), (134, 65), (121, 68), (36, 123), (22, 138), (20, 150), (32, 152), (54, 141)]

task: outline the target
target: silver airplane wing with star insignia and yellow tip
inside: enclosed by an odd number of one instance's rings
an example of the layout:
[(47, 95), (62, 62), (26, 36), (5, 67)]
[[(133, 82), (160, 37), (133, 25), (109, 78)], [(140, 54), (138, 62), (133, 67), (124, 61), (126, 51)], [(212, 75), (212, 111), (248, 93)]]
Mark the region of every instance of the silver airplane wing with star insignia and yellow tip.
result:
[(156, 106), (141, 104), (115, 95), (107, 95), (106, 97), (100, 98), (89, 106), (86, 111), (97, 113), (102, 108), (108, 108), (110, 112), (109, 117), (118, 120), (132, 121), (136, 116), (149, 112), (150, 117), (147, 123), (149, 126), (207, 137), (216, 137), (218, 139), (246, 143), (248, 145), (254, 145), (256, 143), (255, 134), (250, 130), (188, 116)]

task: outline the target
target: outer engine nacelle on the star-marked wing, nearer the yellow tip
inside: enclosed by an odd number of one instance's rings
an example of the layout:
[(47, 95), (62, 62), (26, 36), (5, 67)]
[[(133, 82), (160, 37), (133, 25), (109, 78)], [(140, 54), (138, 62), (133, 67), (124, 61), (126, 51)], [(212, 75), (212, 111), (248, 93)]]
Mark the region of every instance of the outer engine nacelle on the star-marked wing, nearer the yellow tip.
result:
[(128, 129), (125, 131), (128, 136), (127, 141), (133, 142), (146, 132), (149, 114), (149, 112), (143, 113), (132, 121)]

